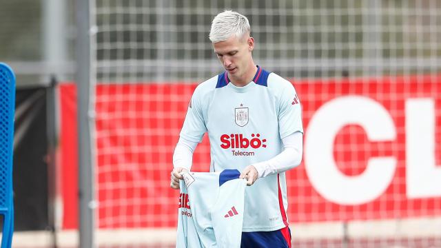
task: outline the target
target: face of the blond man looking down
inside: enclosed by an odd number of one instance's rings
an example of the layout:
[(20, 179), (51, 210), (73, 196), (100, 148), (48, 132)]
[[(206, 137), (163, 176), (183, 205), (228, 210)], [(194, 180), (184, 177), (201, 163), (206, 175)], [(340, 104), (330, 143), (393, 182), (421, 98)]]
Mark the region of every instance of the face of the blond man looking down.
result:
[(249, 35), (241, 39), (233, 35), (225, 41), (213, 43), (213, 47), (220, 63), (231, 77), (240, 79), (254, 67), (252, 59), (254, 39)]

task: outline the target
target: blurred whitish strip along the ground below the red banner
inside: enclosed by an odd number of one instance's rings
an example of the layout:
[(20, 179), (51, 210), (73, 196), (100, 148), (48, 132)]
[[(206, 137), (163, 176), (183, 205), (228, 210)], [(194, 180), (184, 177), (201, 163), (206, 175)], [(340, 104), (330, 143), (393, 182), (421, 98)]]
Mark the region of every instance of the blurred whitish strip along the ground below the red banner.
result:
[[(351, 221), (346, 227), (342, 222), (291, 223), (290, 228), (293, 240), (338, 240), (345, 233), (354, 239), (440, 238), (441, 217)], [(176, 228), (100, 229), (95, 237), (96, 245), (174, 245)], [(61, 247), (77, 247), (78, 240), (76, 230), (57, 232), (57, 245)], [(12, 247), (49, 247), (52, 242), (49, 231), (17, 231)]]

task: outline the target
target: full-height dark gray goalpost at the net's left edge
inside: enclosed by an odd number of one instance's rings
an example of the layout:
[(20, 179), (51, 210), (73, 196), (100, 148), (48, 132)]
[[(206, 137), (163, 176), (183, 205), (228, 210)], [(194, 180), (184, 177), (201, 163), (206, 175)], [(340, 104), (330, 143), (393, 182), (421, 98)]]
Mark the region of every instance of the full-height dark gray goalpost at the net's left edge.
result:
[(94, 80), (91, 58), (90, 1), (76, 1), (76, 85), (79, 156), (79, 247), (94, 247), (94, 163), (92, 159)]

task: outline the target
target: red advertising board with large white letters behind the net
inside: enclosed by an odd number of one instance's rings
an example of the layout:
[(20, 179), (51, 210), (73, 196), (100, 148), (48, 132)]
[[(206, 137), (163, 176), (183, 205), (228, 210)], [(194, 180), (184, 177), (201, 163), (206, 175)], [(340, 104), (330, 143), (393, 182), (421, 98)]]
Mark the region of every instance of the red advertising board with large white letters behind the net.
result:
[[(287, 172), (291, 222), (441, 215), (441, 76), (292, 80), (304, 158)], [(75, 87), (61, 86), (63, 227), (76, 223)], [(172, 154), (196, 84), (96, 87), (99, 227), (174, 227)], [(194, 155), (207, 171), (209, 143)]]

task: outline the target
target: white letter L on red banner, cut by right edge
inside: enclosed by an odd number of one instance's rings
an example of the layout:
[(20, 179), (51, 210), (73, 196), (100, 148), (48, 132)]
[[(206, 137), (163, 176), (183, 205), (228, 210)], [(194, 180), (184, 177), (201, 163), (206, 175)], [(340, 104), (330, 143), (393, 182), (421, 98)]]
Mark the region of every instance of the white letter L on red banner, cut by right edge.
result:
[(406, 193), (409, 198), (441, 196), (441, 167), (435, 165), (435, 103), (406, 101)]

